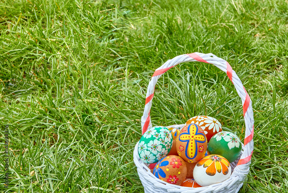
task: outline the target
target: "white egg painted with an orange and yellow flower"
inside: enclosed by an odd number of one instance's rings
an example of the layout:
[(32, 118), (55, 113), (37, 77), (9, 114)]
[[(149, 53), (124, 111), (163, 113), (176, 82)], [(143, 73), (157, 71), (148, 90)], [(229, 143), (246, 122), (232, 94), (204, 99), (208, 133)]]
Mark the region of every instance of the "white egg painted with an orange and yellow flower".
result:
[(228, 160), (219, 155), (209, 155), (198, 161), (193, 177), (200, 186), (210, 186), (228, 179), (231, 166)]

